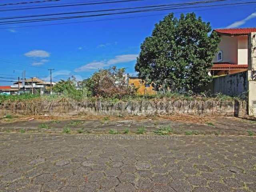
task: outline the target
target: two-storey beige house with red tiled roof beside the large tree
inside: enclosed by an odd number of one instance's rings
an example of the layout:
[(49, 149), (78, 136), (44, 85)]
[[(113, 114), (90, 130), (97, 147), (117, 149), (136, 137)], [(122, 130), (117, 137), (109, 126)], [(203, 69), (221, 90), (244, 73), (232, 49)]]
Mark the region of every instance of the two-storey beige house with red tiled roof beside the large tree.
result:
[(256, 28), (215, 29), (221, 42), (211, 68), (212, 75), (234, 74), (248, 70), (248, 34)]

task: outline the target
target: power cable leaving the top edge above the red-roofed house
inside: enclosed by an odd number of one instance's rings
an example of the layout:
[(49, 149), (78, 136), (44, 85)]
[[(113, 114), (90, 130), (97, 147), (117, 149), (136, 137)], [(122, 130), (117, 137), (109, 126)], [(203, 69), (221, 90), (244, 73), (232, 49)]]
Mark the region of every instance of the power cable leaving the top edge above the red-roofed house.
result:
[(80, 12), (66, 12), (66, 13), (54, 13), (54, 14), (40, 14), (40, 15), (28, 15), (28, 16), (15, 16), (15, 17), (2, 17), (0, 20), (5, 19), (18, 19), (18, 18), (30, 18), (30, 17), (42, 17), (42, 16), (54, 16), (54, 15), (65, 15), (65, 14), (81, 14), (81, 13), (92, 13), (92, 12), (107, 12), (107, 11), (117, 11), (117, 10), (132, 10), (132, 9), (141, 9), (141, 8), (157, 8), (157, 7), (179, 7), (179, 6), (188, 6), (194, 4), (204, 4), (204, 3), (212, 3), (212, 2), (222, 2), (226, 0), (210, 0), (210, 1), (202, 1), (202, 2), (188, 2), (188, 3), (180, 3), (180, 4), (164, 4), (164, 5), (152, 5), (152, 6), (140, 6), (133, 8), (118, 8), (118, 9), (106, 9), (106, 10), (92, 10), (92, 11), (80, 11)]

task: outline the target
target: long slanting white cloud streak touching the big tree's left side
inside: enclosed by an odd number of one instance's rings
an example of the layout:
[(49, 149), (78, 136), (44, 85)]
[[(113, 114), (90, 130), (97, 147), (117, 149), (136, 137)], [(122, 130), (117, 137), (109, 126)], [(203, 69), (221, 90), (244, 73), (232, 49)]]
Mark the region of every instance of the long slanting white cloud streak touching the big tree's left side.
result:
[(126, 63), (130, 61), (134, 61), (136, 60), (137, 56), (138, 56), (137, 54), (118, 55), (118, 56), (115, 56), (114, 59), (110, 59), (108, 61), (90, 62), (84, 66), (76, 68), (74, 71), (82, 72), (82, 71), (88, 71), (88, 70), (97, 70), (97, 69), (104, 68), (104, 67), (118, 64), (118, 63)]

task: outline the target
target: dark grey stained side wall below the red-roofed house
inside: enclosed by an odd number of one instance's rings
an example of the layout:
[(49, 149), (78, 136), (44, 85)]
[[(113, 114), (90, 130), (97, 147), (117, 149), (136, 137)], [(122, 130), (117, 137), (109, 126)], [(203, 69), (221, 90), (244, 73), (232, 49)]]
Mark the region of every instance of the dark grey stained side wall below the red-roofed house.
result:
[(248, 91), (248, 73), (240, 72), (226, 76), (213, 78), (208, 86), (203, 87), (201, 91), (210, 90), (211, 94), (222, 93), (228, 96), (241, 96)]

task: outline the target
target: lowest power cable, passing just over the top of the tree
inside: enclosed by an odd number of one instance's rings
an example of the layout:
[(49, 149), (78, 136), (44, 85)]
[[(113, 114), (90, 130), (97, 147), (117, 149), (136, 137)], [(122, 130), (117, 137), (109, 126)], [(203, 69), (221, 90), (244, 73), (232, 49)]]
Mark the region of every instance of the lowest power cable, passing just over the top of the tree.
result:
[[(226, 7), (220, 7), (220, 8), (190, 10), (190, 11), (186, 11), (186, 12), (216, 10), (216, 9), (233, 8), (233, 7), (240, 7), (240, 6), (250, 6), (250, 5), (226, 6)], [(174, 12), (174, 13), (177, 14), (177, 13), (186, 13), (186, 12)], [(13, 28), (27, 28), (27, 27), (53, 26), (53, 25), (77, 24), (77, 23), (88, 23), (88, 22), (101, 22), (101, 21), (121, 20), (121, 19), (130, 19), (130, 18), (142, 18), (142, 17), (149, 17), (149, 16), (160, 16), (160, 15), (166, 15), (166, 14), (167, 14), (167, 13), (163, 13), (163, 14), (151, 14), (151, 15), (144, 15), (144, 16), (132, 16), (132, 17), (124, 17), (124, 18), (110, 18), (110, 19), (100, 19), (100, 20), (78, 21), (78, 22), (66, 22), (66, 23), (54, 23), (54, 24), (16, 26), (16, 27), (5, 27), (5, 28), (0, 28), (0, 29), (13, 29)]]

